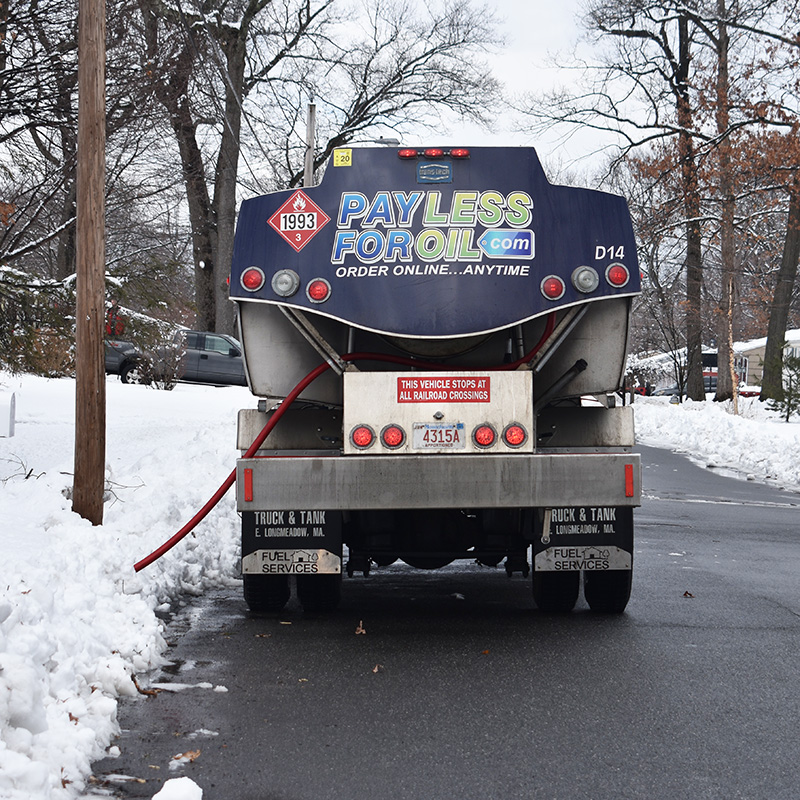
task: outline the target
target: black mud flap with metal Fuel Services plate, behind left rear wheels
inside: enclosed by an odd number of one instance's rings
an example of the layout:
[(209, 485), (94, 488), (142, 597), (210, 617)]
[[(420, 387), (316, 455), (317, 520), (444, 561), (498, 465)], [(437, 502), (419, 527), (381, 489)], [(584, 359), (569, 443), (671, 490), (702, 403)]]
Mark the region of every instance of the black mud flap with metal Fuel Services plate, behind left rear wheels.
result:
[(242, 573), (336, 575), (342, 571), (340, 511), (243, 511)]

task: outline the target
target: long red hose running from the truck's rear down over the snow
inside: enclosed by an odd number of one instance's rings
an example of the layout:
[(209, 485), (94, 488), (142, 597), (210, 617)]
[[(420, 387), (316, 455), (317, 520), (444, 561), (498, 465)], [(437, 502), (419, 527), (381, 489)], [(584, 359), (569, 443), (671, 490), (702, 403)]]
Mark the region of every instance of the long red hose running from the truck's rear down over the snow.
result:
[[(552, 313), (547, 318), (547, 324), (545, 325), (544, 333), (539, 341), (534, 345), (533, 349), (527, 352), (522, 358), (517, 359), (517, 361), (513, 361), (510, 364), (500, 364), (494, 367), (484, 367), (484, 369), (488, 371), (503, 371), (503, 370), (513, 370), (517, 367), (522, 366), (523, 364), (528, 363), (535, 355), (539, 352), (542, 348), (544, 343), (549, 338), (550, 334), (553, 332), (555, 328), (555, 313)], [(346, 353), (342, 357), (342, 361), (383, 361), (389, 364), (399, 364), (401, 366), (407, 367), (424, 367), (425, 369), (440, 369), (440, 370), (452, 370), (452, 367), (448, 367), (444, 364), (433, 364), (430, 362), (424, 361), (416, 361), (413, 358), (404, 358), (403, 356), (393, 356), (385, 353)], [(286, 395), (286, 399), (281, 402), (281, 404), (275, 409), (275, 412), (269, 418), (269, 421), (264, 426), (261, 433), (255, 438), (253, 444), (247, 449), (247, 452), (242, 456), (242, 458), (251, 458), (254, 456), (261, 445), (264, 443), (264, 440), (269, 436), (272, 429), (275, 425), (278, 424), (280, 418), (284, 415), (286, 410), (292, 403), (305, 391), (305, 389), (313, 383), (323, 372), (330, 369), (330, 365), (320, 364), (318, 367), (315, 367), (305, 376), (297, 386)], [(137, 561), (133, 565), (133, 569), (136, 572), (143, 570), (145, 567), (149, 567), (154, 561), (157, 561), (164, 553), (171, 550), (178, 542), (183, 539), (185, 536), (188, 536), (194, 528), (208, 515), (208, 512), (211, 511), (214, 506), (219, 503), (219, 501), (224, 497), (228, 489), (233, 486), (234, 482), (236, 481), (236, 469), (234, 469), (230, 475), (223, 481), (222, 485), (217, 489), (216, 492), (209, 498), (208, 502), (173, 536), (167, 539), (164, 544), (162, 544), (158, 549), (154, 550), (150, 553), (149, 556), (145, 556), (141, 561)]]

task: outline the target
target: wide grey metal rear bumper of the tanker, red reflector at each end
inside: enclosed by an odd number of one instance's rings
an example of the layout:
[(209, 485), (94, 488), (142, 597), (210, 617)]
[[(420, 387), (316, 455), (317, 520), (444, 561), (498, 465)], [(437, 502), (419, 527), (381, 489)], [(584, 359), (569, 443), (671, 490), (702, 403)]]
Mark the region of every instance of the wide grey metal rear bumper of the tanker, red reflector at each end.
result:
[(638, 506), (635, 453), (239, 459), (240, 511)]

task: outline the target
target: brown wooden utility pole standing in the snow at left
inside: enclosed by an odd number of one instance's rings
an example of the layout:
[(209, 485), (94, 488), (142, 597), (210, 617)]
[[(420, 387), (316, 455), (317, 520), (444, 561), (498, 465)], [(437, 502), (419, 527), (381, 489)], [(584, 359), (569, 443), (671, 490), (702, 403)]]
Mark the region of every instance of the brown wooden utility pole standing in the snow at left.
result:
[(103, 522), (106, 462), (105, 0), (78, 5), (77, 313), (72, 510)]

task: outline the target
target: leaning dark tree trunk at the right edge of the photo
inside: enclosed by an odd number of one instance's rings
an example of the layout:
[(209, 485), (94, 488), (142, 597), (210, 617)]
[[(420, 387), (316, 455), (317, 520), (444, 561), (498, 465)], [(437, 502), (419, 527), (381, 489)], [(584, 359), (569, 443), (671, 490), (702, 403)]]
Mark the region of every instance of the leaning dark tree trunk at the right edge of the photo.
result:
[(800, 258), (800, 178), (795, 178), (789, 195), (789, 218), (783, 256), (775, 283), (769, 314), (767, 346), (764, 350), (764, 374), (761, 377), (761, 400), (777, 400), (783, 392), (783, 345), (789, 320), (789, 304), (797, 277)]

